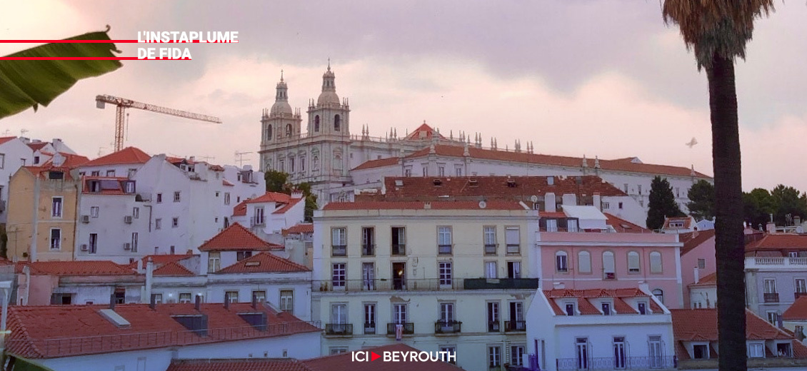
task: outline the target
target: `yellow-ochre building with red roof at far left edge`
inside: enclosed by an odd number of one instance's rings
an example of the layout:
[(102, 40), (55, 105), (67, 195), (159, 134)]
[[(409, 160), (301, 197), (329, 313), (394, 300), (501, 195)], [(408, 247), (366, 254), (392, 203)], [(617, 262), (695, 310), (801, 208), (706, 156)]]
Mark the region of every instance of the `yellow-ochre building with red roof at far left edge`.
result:
[(81, 179), (65, 166), (23, 166), (9, 182), (8, 258), (72, 261)]

